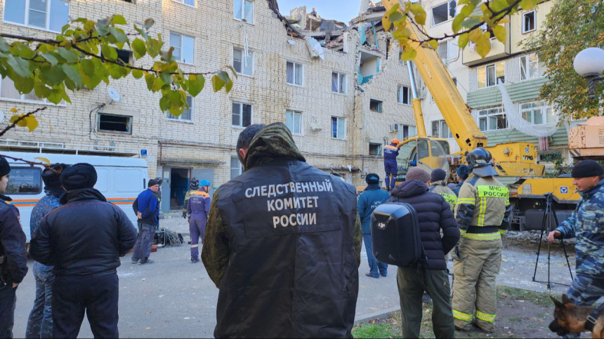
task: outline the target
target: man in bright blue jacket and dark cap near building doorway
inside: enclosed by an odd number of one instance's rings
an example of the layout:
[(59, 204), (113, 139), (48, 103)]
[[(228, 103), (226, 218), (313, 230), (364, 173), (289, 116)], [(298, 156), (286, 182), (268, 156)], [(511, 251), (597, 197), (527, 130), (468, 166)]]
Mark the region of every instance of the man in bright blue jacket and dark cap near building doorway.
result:
[(147, 190), (140, 192), (134, 201), (133, 210), (138, 215), (138, 237), (134, 245), (131, 262), (139, 265), (152, 264), (149, 260), (155, 229), (159, 225), (159, 201), (155, 195), (159, 191), (159, 183), (149, 180)]

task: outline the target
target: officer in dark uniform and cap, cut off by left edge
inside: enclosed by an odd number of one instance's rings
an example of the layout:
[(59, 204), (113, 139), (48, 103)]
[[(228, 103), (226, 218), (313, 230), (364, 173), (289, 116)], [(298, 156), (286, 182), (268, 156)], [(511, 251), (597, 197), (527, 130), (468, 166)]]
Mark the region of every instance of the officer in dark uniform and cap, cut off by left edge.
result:
[(13, 338), (17, 286), (27, 274), (25, 233), (21, 229), (19, 210), (6, 197), (11, 166), (0, 157), (0, 338)]

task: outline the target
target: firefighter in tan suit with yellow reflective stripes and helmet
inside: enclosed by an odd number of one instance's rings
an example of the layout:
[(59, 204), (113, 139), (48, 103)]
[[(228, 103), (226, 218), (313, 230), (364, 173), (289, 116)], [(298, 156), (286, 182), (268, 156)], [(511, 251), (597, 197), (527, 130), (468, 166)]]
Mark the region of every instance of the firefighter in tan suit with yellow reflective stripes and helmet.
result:
[(474, 311), (482, 331), (495, 331), (501, 236), (509, 227), (509, 191), (493, 178), (493, 158), (479, 147), (468, 153), (471, 170), (459, 190), (455, 218), (461, 239), (453, 255), (453, 317), (459, 330), (471, 328)]

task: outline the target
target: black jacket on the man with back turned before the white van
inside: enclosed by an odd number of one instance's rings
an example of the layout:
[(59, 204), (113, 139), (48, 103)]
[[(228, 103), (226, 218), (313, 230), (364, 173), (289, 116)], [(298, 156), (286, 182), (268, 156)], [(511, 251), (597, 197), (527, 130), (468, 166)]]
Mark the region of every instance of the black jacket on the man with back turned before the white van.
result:
[(94, 189), (73, 190), (64, 206), (48, 213), (32, 239), (29, 254), (56, 275), (103, 275), (116, 272), (119, 257), (136, 242), (136, 229), (119, 207)]

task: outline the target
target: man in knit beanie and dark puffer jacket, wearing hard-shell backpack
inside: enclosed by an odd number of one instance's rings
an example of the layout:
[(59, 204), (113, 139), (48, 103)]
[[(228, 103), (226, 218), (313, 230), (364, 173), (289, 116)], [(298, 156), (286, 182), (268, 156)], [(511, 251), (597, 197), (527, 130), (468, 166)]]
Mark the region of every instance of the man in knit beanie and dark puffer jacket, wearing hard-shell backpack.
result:
[(407, 181), (395, 187), (392, 198), (388, 199), (388, 202), (405, 202), (413, 206), (419, 221), (421, 243), (428, 257), (426, 266), (398, 267), (403, 338), (419, 338), (424, 292), (433, 300), (432, 324), (436, 338), (454, 338), (455, 335), (445, 253), (457, 244), (460, 234), (451, 207), (440, 194), (428, 190), (429, 182), (428, 172), (419, 167), (411, 168)]

